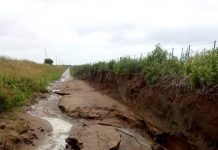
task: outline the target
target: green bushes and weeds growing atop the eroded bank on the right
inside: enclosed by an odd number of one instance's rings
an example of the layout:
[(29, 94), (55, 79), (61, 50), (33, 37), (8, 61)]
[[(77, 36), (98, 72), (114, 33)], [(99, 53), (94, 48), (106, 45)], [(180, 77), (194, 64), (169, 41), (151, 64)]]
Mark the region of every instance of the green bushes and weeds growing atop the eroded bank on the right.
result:
[(98, 62), (73, 66), (73, 76), (91, 79), (93, 73), (113, 71), (116, 74), (144, 73), (149, 85), (173, 76), (187, 77), (193, 87), (218, 84), (218, 49), (203, 51), (190, 56), (189, 51), (181, 58), (168, 53), (160, 45), (146, 57), (133, 59), (122, 57), (110, 62)]

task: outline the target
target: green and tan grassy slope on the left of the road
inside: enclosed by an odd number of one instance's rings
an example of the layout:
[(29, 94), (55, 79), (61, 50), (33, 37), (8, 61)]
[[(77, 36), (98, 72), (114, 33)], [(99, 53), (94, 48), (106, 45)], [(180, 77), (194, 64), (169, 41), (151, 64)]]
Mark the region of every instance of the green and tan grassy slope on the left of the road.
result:
[(25, 104), (34, 92), (45, 91), (63, 71), (61, 66), (0, 57), (0, 112)]

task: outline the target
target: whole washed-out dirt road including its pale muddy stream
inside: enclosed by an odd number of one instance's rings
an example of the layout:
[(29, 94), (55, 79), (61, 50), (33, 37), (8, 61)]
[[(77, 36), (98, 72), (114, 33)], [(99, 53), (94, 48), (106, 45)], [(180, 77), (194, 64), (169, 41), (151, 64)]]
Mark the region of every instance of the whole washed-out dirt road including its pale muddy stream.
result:
[(143, 122), (128, 107), (70, 77), (50, 86), (51, 95), (28, 113), (51, 125), (38, 150), (152, 150)]

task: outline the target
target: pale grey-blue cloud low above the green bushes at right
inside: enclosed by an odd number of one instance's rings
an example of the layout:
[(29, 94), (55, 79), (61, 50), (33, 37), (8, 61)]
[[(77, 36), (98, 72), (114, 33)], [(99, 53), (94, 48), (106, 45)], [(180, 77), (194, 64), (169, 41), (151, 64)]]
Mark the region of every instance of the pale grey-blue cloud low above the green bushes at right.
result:
[(146, 40), (184, 45), (189, 43), (207, 43), (218, 39), (217, 26), (190, 26), (180, 28), (162, 28), (151, 32)]

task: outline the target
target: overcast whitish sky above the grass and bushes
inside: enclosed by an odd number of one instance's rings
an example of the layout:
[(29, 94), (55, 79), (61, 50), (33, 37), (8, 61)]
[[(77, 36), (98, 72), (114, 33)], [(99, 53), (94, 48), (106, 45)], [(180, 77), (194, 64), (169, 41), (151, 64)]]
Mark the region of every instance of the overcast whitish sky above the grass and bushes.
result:
[(218, 40), (217, 0), (0, 0), (0, 55), (84, 64)]

